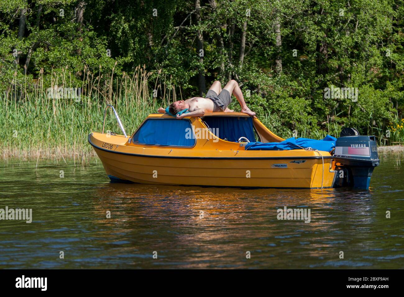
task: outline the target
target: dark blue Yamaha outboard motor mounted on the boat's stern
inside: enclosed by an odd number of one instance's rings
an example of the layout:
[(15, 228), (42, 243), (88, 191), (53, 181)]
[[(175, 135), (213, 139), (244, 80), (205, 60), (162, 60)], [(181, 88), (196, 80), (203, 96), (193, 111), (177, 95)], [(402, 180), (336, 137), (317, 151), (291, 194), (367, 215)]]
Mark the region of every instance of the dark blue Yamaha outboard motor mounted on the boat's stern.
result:
[(345, 180), (339, 183), (368, 189), (373, 169), (380, 163), (376, 137), (359, 135), (356, 129), (344, 128), (335, 142), (334, 159), (341, 164), (339, 169), (346, 173)]

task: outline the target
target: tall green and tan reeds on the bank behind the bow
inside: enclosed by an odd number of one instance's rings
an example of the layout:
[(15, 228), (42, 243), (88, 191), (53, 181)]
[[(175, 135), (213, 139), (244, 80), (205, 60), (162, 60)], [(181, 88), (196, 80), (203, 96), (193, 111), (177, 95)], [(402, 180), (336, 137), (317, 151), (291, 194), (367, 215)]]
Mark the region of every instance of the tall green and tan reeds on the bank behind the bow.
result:
[[(87, 164), (95, 155), (87, 136), (101, 132), (107, 104), (115, 107), (130, 134), (148, 114), (176, 100), (175, 86), (169, 79), (162, 77), (161, 71), (147, 72), (145, 66), (137, 67), (132, 76), (122, 73), (120, 77), (114, 76), (114, 70), (107, 77), (101, 71), (95, 76), (84, 67), (79, 86), (72, 86), (71, 76), (67, 69), (54, 71), (46, 84), (41, 71), (36, 83), (23, 87), (18, 96), (14, 83), (1, 94), (0, 158), (72, 158), (75, 163)], [(80, 100), (50, 98), (48, 87), (81, 87), (82, 95)], [(122, 134), (111, 109), (105, 121), (107, 130)]]

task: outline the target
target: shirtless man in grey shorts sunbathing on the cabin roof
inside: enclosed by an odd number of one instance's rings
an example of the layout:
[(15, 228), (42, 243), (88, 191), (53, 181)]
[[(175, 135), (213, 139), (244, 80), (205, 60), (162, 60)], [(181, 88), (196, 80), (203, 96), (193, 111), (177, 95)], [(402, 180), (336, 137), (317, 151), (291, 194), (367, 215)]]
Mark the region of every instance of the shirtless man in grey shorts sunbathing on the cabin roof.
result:
[[(219, 95), (217, 95), (219, 94)], [(187, 100), (179, 100), (170, 104), (169, 111), (171, 114), (177, 115), (177, 119), (184, 118), (186, 116), (203, 116), (206, 112), (233, 112), (229, 110), (227, 106), (231, 103), (231, 94), (236, 96), (238, 102), (241, 105), (241, 112), (255, 116), (255, 112), (252, 112), (244, 101), (243, 93), (235, 80), (230, 80), (222, 90), (221, 84), (218, 80), (213, 82), (206, 98), (193, 97)], [(187, 109), (187, 114), (177, 114), (181, 110)], [(163, 107), (158, 109), (158, 112), (165, 113), (166, 110)]]

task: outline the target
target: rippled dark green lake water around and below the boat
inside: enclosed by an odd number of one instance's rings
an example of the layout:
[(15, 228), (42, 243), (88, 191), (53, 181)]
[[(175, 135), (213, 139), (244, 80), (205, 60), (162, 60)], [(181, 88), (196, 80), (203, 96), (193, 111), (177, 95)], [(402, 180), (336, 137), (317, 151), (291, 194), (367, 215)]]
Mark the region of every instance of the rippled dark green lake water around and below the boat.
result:
[[(369, 191), (114, 184), (99, 160), (54, 163), (0, 161), (0, 209), (32, 209), (32, 223), (0, 220), (0, 268), (404, 267), (397, 156)], [(278, 220), (284, 206), (310, 223)]]

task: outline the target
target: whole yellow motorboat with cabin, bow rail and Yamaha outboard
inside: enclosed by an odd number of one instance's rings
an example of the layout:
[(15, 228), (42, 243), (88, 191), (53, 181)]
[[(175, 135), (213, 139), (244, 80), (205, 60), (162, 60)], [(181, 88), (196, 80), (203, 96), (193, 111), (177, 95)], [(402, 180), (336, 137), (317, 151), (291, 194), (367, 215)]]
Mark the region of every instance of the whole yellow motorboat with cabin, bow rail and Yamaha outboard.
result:
[[(123, 135), (104, 133), (108, 107), (114, 111)], [(307, 147), (246, 150), (251, 138), (254, 143), (264, 144), (285, 139), (257, 118), (238, 112), (207, 113), (181, 120), (168, 114), (150, 114), (128, 136), (114, 107), (107, 108), (102, 132), (90, 133), (88, 142), (112, 182), (368, 188), (372, 171), (379, 165), (374, 136), (340, 137), (331, 152)]]

